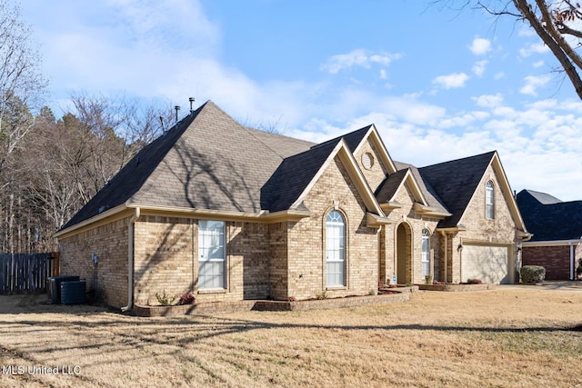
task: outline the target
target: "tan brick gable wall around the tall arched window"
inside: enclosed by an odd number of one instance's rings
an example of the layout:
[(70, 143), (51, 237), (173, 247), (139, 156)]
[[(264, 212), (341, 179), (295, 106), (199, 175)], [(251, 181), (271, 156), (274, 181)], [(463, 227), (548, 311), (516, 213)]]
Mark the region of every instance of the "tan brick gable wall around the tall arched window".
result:
[[(305, 199), (314, 216), (288, 228), (288, 295), (297, 300), (326, 292), (329, 297), (376, 292), (377, 228), (366, 226), (366, 206), (336, 157)], [(337, 209), (346, 218), (346, 287), (326, 287), (325, 217)], [(289, 225), (291, 226), (291, 225)]]

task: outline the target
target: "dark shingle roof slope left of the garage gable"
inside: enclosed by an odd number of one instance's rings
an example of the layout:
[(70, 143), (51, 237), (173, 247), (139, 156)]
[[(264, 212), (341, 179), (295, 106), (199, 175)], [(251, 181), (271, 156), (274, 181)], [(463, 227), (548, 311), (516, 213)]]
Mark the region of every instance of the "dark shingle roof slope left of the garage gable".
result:
[(457, 226), (495, 154), (496, 151), (491, 151), (418, 169), (422, 179), (453, 214), (441, 220), (439, 228)]

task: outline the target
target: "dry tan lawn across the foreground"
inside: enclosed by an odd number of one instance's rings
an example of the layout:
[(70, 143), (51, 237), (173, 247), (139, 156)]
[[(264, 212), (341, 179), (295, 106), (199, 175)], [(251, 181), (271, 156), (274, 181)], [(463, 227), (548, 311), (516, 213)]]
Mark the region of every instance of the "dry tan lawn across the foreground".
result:
[(0, 365), (59, 374), (3, 373), (0, 386), (582, 387), (582, 289), (178, 318), (45, 299), (0, 296)]

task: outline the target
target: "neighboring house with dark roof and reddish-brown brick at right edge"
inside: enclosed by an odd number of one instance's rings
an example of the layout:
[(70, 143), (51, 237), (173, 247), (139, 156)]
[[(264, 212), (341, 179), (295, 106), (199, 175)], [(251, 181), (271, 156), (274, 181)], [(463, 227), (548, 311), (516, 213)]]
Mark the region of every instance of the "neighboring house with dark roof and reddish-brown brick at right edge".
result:
[(573, 280), (582, 259), (582, 201), (562, 202), (533, 190), (517, 193), (517, 205), (527, 230), (523, 264), (546, 268), (547, 280)]

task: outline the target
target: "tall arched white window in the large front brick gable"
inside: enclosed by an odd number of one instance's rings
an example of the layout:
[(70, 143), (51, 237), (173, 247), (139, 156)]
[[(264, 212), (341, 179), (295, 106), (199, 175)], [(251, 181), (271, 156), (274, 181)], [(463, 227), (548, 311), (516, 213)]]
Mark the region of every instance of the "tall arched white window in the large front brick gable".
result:
[(336, 210), (326, 218), (327, 286), (346, 285), (346, 223)]

